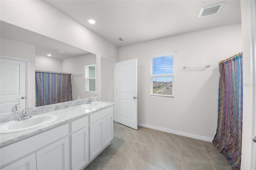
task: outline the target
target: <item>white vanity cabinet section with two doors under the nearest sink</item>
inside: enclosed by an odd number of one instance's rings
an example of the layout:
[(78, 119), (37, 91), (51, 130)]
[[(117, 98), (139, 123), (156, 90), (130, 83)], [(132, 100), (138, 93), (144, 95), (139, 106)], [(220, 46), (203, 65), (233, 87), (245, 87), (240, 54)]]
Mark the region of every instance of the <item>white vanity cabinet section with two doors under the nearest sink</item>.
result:
[(12, 162), (1, 170), (68, 170), (68, 128), (68, 124), (65, 124), (0, 148), (1, 166)]

